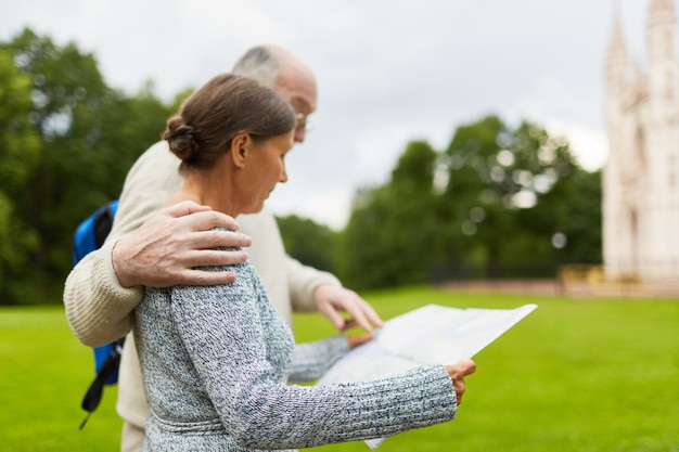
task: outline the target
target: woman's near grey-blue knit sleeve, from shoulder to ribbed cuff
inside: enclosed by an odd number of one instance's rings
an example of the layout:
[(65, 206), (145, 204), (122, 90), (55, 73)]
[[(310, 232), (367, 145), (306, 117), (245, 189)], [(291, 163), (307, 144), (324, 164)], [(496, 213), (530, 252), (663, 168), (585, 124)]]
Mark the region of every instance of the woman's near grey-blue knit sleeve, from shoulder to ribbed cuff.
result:
[(243, 280), (239, 274), (228, 290), (182, 289), (172, 300), (182, 341), (239, 445), (310, 448), (382, 438), (454, 417), (454, 390), (443, 365), (369, 383), (287, 386), (271, 365), (272, 350), (281, 344), (265, 341), (271, 327), (252, 292), (239, 287)]

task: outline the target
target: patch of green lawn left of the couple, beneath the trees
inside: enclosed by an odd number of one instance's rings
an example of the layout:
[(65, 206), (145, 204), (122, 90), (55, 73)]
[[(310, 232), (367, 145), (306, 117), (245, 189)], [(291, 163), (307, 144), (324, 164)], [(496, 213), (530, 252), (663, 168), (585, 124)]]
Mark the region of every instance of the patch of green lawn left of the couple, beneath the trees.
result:
[(102, 405), (78, 430), (93, 361), (61, 307), (0, 309), (0, 363), (1, 450), (119, 450), (116, 387), (105, 389)]

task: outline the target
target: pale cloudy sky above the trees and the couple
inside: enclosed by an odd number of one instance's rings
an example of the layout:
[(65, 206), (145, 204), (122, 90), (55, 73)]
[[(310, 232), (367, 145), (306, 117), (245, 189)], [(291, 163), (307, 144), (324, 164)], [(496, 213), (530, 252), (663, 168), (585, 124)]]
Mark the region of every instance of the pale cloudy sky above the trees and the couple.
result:
[[(297, 54), (319, 86), (313, 128), (266, 207), (344, 228), (356, 190), (384, 183), (411, 140), (447, 147), (497, 114), (566, 137), (589, 170), (607, 156), (605, 52), (613, 17), (646, 62), (650, 0), (1, 0), (0, 39), (24, 27), (91, 52), (130, 94), (170, 100), (248, 48)], [(152, 143), (140, 143), (140, 153)]]

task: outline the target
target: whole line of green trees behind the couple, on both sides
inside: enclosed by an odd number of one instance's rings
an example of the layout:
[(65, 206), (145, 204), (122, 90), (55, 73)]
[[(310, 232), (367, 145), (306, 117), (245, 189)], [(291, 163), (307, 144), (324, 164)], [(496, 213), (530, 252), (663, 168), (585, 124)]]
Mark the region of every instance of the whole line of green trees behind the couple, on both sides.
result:
[[(0, 304), (61, 302), (76, 225), (119, 195), (189, 93), (126, 94), (91, 53), (28, 28), (0, 42)], [(601, 261), (600, 177), (541, 127), (488, 116), (444, 151), (408, 143), (388, 182), (357, 191), (344, 231), (279, 223), (292, 256), (359, 289), (549, 275)]]

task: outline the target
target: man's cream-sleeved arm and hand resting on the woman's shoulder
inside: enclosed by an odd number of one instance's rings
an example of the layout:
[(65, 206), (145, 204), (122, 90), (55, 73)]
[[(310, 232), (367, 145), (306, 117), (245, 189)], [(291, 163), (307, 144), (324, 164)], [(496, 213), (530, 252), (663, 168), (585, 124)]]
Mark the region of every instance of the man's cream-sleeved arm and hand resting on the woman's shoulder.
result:
[(194, 203), (161, 210), (181, 185), (178, 162), (164, 142), (137, 160), (125, 181), (108, 238), (68, 275), (66, 317), (84, 344), (100, 346), (127, 334), (130, 314), (143, 295), (142, 285), (229, 282), (232, 274), (212, 281), (192, 267), (245, 259), (244, 251), (210, 250), (214, 246), (249, 245), (249, 237), (243, 234), (206, 231), (213, 227), (238, 229), (231, 217)]

